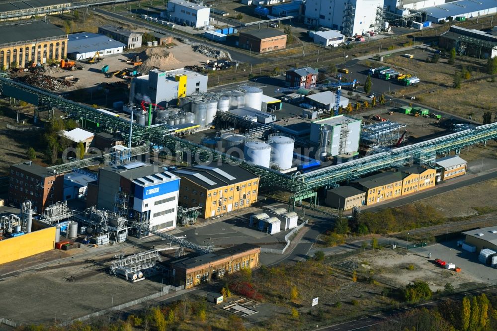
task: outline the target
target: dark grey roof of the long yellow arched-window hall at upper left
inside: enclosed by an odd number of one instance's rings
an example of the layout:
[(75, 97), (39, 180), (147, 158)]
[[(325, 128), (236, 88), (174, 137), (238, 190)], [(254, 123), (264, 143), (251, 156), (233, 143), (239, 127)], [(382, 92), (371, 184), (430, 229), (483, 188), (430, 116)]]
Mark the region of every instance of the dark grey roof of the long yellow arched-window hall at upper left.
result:
[(67, 35), (61, 28), (52, 23), (45, 23), (44, 21), (0, 25), (0, 45), (65, 36)]

